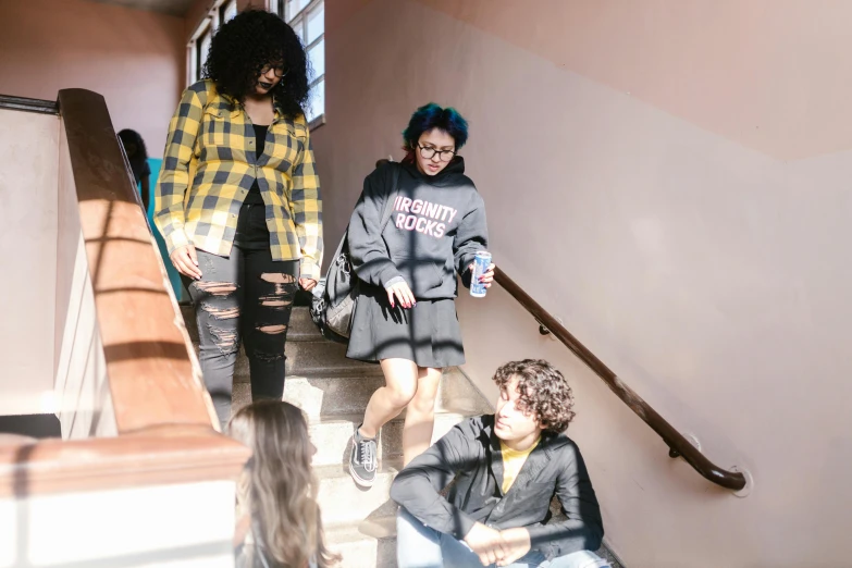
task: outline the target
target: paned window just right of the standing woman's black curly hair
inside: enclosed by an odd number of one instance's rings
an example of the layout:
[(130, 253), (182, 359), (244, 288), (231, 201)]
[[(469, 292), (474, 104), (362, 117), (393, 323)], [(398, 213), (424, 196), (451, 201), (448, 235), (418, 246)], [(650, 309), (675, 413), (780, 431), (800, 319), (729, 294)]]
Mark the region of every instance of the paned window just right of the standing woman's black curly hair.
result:
[(325, 122), (325, 2), (324, 0), (270, 0), (270, 11), (279, 14), (299, 36), (313, 69), (310, 107), (311, 126)]

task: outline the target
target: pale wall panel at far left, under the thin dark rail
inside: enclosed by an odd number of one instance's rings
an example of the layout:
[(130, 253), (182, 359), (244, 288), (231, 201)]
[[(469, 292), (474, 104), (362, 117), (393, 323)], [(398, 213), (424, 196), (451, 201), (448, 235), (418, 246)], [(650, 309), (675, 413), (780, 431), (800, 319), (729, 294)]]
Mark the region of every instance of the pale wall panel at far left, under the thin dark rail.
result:
[(0, 416), (53, 410), (59, 127), (0, 110)]

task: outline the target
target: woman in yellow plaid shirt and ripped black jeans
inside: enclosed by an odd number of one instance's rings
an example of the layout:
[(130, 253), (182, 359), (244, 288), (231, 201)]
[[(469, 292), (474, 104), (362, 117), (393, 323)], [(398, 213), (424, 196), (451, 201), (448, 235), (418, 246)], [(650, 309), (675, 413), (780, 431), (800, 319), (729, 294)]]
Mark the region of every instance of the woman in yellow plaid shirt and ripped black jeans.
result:
[(240, 339), (252, 399), (282, 397), (293, 298), (319, 279), (322, 206), (293, 29), (243, 12), (213, 36), (203, 74), (169, 127), (155, 222), (196, 307), (201, 371), (224, 424)]

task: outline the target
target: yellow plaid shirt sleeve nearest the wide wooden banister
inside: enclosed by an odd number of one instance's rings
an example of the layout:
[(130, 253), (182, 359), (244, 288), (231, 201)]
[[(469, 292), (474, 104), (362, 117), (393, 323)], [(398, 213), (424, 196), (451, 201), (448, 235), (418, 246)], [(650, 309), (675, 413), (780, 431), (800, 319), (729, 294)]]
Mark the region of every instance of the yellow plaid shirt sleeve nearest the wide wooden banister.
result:
[(184, 91), (169, 123), (163, 164), (155, 190), (153, 221), (170, 255), (190, 244), (184, 231), (184, 196), (190, 183), (189, 166), (203, 112), (203, 103), (196, 87), (194, 85)]

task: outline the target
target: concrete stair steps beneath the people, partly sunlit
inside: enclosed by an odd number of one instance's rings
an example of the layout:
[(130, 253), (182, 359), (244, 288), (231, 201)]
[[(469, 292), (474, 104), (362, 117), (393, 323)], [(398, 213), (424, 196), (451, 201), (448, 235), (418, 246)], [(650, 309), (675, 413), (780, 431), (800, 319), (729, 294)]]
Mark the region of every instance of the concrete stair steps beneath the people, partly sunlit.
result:
[[(192, 307), (183, 306), (194, 345), (198, 330)], [(350, 439), (372, 393), (384, 384), (378, 365), (346, 358), (346, 347), (326, 341), (310, 319), (308, 308), (295, 307), (287, 332), (287, 380), (284, 399), (308, 415), (317, 446), (313, 466), (320, 479), (319, 502), (330, 546), (343, 555), (344, 568), (396, 566), (396, 505), (391, 483), (402, 467), (405, 415), (382, 429), (380, 471), (365, 491), (348, 472)], [(250, 403), (248, 360), (240, 354), (234, 373), (234, 409)], [(466, 417), (491, 411), (491, 406), (458, 370), (444, 373), (435, 409), (433, 440)]]

